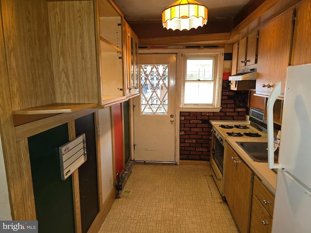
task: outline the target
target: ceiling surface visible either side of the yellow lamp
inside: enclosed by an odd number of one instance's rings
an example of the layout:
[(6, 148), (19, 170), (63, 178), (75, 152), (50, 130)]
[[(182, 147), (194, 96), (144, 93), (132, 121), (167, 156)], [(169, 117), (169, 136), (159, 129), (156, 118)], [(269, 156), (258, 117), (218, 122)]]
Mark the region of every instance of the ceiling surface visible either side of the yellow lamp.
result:
[[(175, 0), (113, 0), (128, 21), (161, 20), (163, 10)], [(234, 17), (250, 0), (198, 0), (208, 17)]]

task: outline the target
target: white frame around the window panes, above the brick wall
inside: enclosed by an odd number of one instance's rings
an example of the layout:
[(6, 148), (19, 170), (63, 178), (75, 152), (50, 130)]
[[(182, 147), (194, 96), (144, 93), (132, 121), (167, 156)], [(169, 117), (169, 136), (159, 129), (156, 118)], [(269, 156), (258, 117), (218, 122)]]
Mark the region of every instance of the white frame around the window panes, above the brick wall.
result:
[[(204, 112), (219, 112), (221, 109), (222, 96), (222, 81), (224, 68), (224, 49), (207, 49), (196, 51), (183, 51), (180, 53), (180, 95), (179, 108), (180, 111), (204, 111)], [(214, 83), (213, 102), (211, 104), (190, 104), (184, 103), (185, 83), (186, 83), (186, 69), (187, 59), (208, 59), (213, 58), (213, 80), (206, 82)], [(201, 81), (198, 81), (201, 82)]]

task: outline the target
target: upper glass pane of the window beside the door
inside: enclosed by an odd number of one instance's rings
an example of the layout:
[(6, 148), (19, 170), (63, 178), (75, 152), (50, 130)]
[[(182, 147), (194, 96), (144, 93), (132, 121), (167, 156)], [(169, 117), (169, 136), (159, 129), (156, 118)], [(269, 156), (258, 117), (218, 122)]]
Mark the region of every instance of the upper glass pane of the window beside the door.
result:
[(187, 81), (207, 81), (213, 80), (213, 60), (187, 60)]

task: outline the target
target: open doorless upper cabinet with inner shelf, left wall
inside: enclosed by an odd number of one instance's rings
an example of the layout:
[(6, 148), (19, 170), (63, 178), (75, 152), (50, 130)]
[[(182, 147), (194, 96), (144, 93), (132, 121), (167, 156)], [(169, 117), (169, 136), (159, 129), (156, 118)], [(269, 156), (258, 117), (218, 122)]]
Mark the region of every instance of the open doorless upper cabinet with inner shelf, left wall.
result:
[(110, 0), (99, 0), (101, 105), (125, 99), (123, 16)]

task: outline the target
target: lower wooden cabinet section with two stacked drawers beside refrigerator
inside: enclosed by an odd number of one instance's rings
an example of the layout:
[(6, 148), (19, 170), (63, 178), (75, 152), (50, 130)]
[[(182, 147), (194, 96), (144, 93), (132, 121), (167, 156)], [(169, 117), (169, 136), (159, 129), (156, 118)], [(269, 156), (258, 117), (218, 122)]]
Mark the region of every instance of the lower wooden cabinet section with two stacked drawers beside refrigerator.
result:
[(254, 179), (250, 233), (271, 233), (274, 196)]

